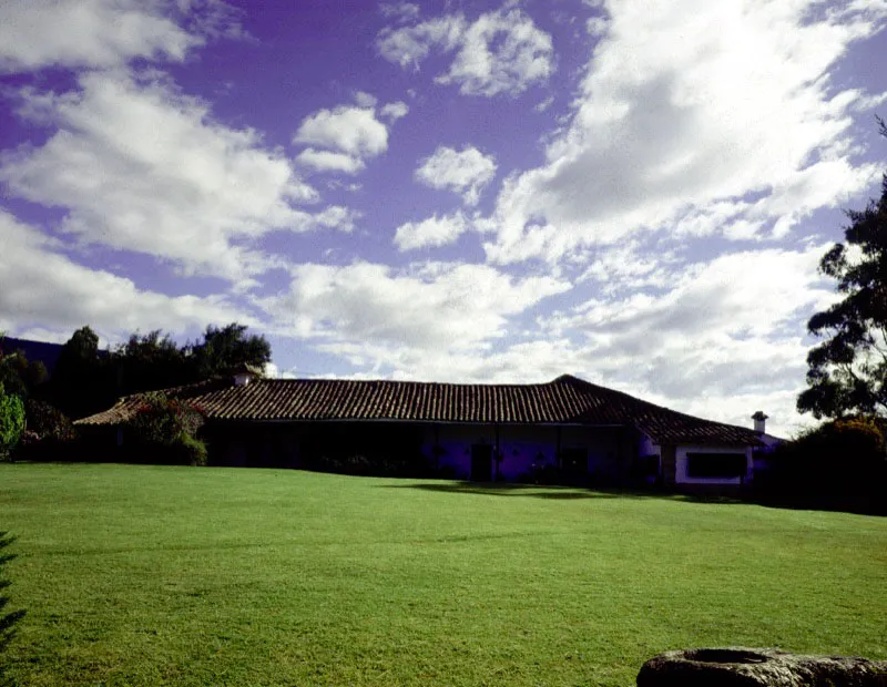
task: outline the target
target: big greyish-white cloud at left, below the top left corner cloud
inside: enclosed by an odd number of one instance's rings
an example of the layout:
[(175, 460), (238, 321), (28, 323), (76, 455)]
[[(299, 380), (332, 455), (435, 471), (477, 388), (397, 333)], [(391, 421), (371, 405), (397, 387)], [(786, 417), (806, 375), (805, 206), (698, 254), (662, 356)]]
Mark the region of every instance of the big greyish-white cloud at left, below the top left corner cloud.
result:
[(245, 279), (267, 266), (251, 242), (316, 226), (293, 207), (316, 192), (254, 131), (213, 122), (205, 103), (163, 82), (98, 72), (80, 86), (52, 103), (59, 130), (43, 145), (0, 158), (9, 192), (67, 211), (63, 230)]

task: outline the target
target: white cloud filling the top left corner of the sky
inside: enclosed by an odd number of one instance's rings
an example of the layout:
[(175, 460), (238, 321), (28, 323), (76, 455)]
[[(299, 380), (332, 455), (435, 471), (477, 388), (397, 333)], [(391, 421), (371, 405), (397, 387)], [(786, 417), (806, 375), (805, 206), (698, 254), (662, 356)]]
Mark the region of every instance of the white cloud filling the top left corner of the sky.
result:
[(236, 27), (232, 21), (221, 2), (4, 0), (0, 72), (109, 68), (135, 58), (182, 61), (204, 43), (203, 35), (230, 34)]

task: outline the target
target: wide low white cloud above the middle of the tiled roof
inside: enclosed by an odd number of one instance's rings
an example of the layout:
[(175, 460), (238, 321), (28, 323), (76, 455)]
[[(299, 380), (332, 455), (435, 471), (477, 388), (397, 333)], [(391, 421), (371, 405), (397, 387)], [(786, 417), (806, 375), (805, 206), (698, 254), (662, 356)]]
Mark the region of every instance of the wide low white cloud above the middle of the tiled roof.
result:
[(428, 263), (398, 271), (369, 263), (307, 264), (294, 269), (288, 294), (256, 303), (282, 334), (325, 345), (468, 350), (502, 337), (509, 316), (568, 288), (485, 265)]

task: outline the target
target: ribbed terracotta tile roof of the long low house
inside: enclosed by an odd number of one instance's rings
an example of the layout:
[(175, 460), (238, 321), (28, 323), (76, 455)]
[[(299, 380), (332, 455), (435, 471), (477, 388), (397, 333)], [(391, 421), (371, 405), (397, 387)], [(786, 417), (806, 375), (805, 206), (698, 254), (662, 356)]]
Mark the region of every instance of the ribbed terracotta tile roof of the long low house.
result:
[[(396, 420), (415, 422), (630, 425), (656, 443), (757, 444), (751, 429), (712, 422), (564, 375), (539, 384), (458, 384), (389, 380), (221, 380), (170, 389), (211, 420)], [(78, 424), (119, 424), (142, 406), (125, 397)]]

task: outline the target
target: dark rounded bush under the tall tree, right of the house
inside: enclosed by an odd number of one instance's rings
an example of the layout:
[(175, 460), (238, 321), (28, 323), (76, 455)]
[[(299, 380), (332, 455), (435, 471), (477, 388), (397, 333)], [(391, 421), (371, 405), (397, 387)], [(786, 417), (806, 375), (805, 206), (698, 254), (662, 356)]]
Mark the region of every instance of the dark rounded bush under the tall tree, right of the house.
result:
[(805, 507), (887, 513), (885, 433), (871, 418), (834, 420), (777, 447), (767, 498)]

